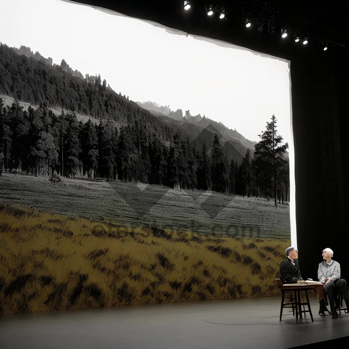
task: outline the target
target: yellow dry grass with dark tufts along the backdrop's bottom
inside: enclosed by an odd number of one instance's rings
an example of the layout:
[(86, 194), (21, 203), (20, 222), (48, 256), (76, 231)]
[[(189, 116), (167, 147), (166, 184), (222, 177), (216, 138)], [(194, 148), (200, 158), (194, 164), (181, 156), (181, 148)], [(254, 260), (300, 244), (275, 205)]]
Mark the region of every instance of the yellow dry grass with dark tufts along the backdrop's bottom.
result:
[(289, 240), (170, 236), (0, 207), (0, 313), (278, 294)]

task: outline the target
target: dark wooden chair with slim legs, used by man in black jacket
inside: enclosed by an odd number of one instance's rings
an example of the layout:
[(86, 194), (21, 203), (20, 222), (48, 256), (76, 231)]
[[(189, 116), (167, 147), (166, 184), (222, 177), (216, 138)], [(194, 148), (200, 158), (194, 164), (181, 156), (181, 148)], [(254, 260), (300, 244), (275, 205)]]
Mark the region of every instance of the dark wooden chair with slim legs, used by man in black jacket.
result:
[[(309, 298), (308, 298), (308, 292), (307, 289), (303, 289), (301, 286), (284, 286), (282, 284), (282, 281), (280, 279), (275, 279), (275, 283), (277, 284), (277, 287), (279, 287), (279, 290), (281, 291), (282, 294), (282, 299), (281, 299), (281, 309), (280, 309), (280, 321), (282, 318), (282, 311), (283, 308), (287, 307), (287, 305), (291, 305), (292, 307), (295, 307), (296, 310), (296, 322), (298, 323), (298, 314), (299, 317), (302, 319), (302, 313), (309, 313), (311, 317), (311, 321), (314, 322), (313, 320), (313, 315), (311, 313), (311, 308), (310, 308), (310, 303), (309, 303)], [(304, 291), (305, 292), (305, 297), (306, 297), (306, 302), (302, 302), (302, 299), (300, 297), (300, 292)], [(295, 295), (295, 304), (293, 305), (293, 301), (291, 303), (284, 303), (285, 300), (285, 292), (294, 292)], [(302, 305), (303, 305), (303, 310), (302, 310)], [(305, 310), (304, 306), (308, 307), (308, 310)], [(299, 308), (299, 309), (298, 309)]]

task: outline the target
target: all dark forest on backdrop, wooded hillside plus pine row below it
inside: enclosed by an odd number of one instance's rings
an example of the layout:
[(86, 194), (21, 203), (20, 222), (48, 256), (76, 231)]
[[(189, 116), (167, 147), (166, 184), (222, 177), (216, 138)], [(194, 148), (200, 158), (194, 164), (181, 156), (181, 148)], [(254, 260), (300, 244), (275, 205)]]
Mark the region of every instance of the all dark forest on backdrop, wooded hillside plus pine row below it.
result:
[[(165, 125), (128, 96), (116, 94), (101, 76), (73, 76), (62, 64), (51, 66), (0, 43), (0, 92), (34, 105), (45, 101), (36, 110), (23, 110), (18, 102), (4, 107), (0, 99), (5, 171), (139, 181), (274, 198), (275, 205), (288, 201), (288, 145), (281, 145), (274, 116), (254, 150), (247, 149), (242, 161), (228, 160), (217, 135), (211, 149), (200, 142), (193, 146), (188, 129)], [(49, 105), (73, 112), (56, 115)], [(99, 125), (77, 120), (74, 111), (100, 120)]]

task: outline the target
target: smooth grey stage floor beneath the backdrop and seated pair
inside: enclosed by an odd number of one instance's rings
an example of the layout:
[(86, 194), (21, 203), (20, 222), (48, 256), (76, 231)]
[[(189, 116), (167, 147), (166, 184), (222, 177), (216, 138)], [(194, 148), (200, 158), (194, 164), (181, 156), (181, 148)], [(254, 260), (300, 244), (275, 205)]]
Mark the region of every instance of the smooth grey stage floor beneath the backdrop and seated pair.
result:
[[(349, 314), (299, 320), (281, 297), (13, 314), (0, 317), (2, 349), (291, 348), (349, 335)], [(304, 316), (304, 315), (303, 315)]]

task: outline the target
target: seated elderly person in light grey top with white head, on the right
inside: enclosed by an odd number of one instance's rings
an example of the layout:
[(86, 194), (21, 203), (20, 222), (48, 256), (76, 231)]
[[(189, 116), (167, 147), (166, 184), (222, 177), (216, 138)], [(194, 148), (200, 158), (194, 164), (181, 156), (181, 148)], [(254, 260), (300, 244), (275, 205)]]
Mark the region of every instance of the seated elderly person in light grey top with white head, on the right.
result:
[[(338, 317), (336, 309), (339, 308), (340, 302), (338, 296), (344, 299), (348, 309), (349, 296), (347, 282), (341, 279), (341, 266), (338, 262), (334, 261), (332, 257), (333, 251), (331, 248), (325, 248), (325, 250), (322, 251), (322, 258), (324, 261), (319, 264), (318, 279), (324, 284), (324, 294), (325, 297), (328, 297), (332, 318), (336, 319)], [(320, 303), (320, 311), (323, 306), (324, 304)], [(319, 315), (322, 314), (319, 312)]]

